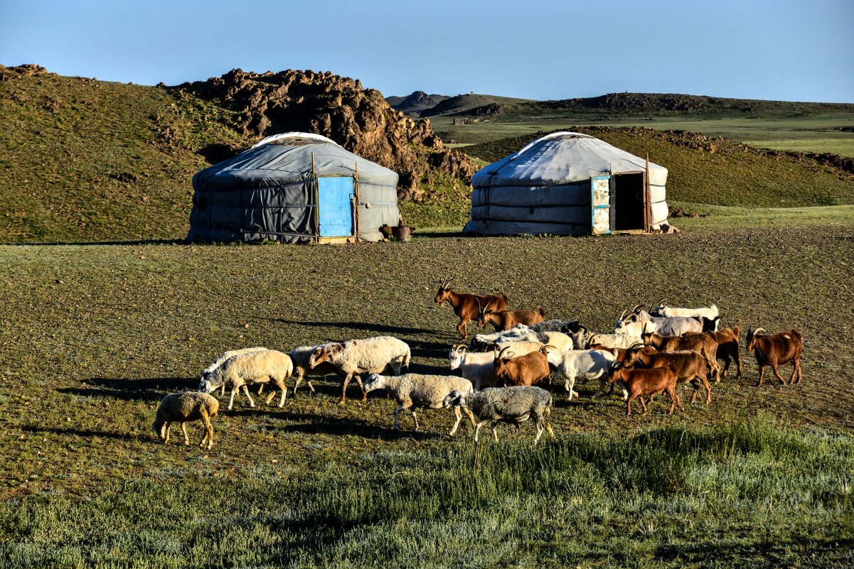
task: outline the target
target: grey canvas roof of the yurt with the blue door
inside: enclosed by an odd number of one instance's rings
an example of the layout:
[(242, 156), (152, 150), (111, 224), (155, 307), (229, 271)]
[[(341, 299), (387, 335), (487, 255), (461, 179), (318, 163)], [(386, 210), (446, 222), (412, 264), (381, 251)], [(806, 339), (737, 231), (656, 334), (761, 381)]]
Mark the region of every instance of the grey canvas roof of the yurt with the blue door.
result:
[(310, 132), (267, 136), (229, 160), (196, 173), (193, 185), (202, 187), (272, 187), (309, 180), (313, 175), (355, 176), (377, 186), (397, 185), (397, 174)]

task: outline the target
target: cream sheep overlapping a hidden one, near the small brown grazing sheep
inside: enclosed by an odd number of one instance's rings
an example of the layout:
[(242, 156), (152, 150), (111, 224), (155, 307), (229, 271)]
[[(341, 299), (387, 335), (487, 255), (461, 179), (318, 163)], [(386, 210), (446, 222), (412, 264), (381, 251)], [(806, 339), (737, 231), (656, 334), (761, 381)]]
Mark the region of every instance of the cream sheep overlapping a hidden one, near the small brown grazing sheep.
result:
[[(243, 394), (249, 399), (249, 407), (254, 407), (255, 402), (249, 395), (247, 385), (269, 382), (282, 392), (278, 402), (278, 406), (282, 407), (288, 393), (284, 380), (289, 378), (293, 371), (294, 363), (290, 361), (288, 354), (276, 350), (253, 351), (225, 360), (225, 363), (208, 375), (207, 380), (202, 381), (202, 391), (210, 393), (219, 386), (231, 387), (231, 399), (228, 402), (228, 410), (231, 410), (237, 389), (243, 388)], [(275, 390), (270, 392), (265, 403), (269, 404), (275, 394)]]

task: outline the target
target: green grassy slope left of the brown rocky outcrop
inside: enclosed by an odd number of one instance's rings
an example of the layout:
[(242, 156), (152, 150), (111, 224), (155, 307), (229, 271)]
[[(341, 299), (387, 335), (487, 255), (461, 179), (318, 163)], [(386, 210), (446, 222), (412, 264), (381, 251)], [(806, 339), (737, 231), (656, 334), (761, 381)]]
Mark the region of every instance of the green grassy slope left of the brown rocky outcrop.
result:
[(35, 74), (0, 81), (0, 241), (183, 238), (191, 178), (228, 112), (178, 91)]

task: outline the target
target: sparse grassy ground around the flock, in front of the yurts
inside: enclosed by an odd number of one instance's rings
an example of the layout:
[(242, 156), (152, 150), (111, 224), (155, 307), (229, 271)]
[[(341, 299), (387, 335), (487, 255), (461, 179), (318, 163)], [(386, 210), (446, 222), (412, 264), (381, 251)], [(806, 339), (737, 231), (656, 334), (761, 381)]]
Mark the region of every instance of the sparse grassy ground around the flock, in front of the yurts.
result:
[[(695, 220), (692, 220), (695, 221)], [(846, 221), (847, 223), (842, 223)], [(0, 554), (13, 567), (846, 567), (854, 554), (851, 218), (809, 231), (421, 235), (348, 247), (0, 247)], [(623, 308), (715, 302), (723, 324), (803, 331), (804, 382), (757, 369), (626, 417), (556, 392), (557, 434), (394, 432), (389, 399), (319, 380), (284, 408), (243, 396), (213, 450), (150, 432), (221, 351), (395, 335), (412, 371), (459, 341), (436, 278), (606, 330)], [(744, 334), (744, 332), (742, 332)], [(784, 374), (786, 370), (784, 369)], [(331, 379), (331, 378), (330, 378)], [(257, 398), (256, 398), (257, 401)]]

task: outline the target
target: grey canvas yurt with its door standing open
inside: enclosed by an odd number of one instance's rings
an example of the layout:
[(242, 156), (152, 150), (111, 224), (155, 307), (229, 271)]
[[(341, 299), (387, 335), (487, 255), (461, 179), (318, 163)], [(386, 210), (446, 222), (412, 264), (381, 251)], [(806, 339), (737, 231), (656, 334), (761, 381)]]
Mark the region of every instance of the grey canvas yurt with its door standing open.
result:
[(555, 132), (472, 177), (470, 235), (649, 231), (667, 221), (667, 168), (594, 136)]

